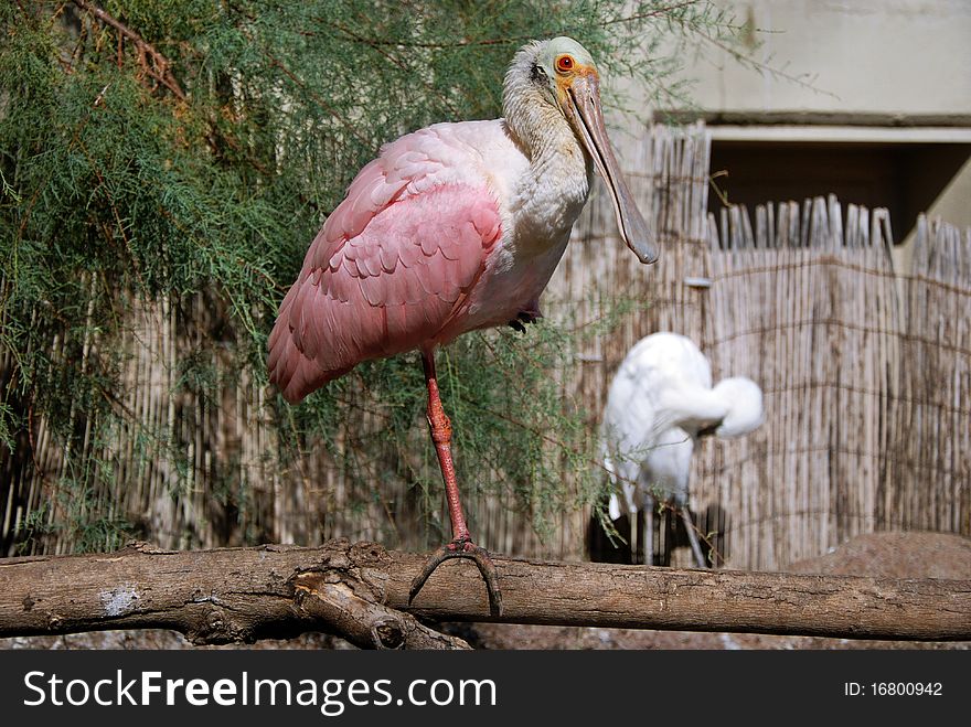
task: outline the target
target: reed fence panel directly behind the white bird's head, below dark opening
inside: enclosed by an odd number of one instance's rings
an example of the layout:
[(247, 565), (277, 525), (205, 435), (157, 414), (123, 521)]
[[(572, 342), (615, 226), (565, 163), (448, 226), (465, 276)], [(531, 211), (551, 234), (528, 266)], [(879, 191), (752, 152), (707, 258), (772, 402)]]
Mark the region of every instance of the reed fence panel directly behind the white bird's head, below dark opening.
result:
[(766, 424), (707, 441), (695, 496), (725, 514), (730, 565), (776, 568), (877, 523), (903, 333), (886, 211), (821, 197), (734, 207), (712, 240), (715, 378), (762, 387)]

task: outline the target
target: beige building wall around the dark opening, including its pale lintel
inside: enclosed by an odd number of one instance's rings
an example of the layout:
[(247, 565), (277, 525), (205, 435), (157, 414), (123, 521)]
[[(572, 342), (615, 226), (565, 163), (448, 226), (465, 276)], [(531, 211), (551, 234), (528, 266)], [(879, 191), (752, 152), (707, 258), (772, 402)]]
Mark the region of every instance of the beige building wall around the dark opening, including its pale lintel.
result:
[[(715, 122), (789, 125), (723, 126), (716, 139), (721, 131), (790, 141), (807, 133), (837, 142), (971, 140), (971, 0), (715, 2), (761, 29), (743, 34), (748, 55), (785, 75), (689, 44), (681, 54), (694, 104)], [(817, 126), (793, 126), (801, 124)], [(971, 161), (928, 212), (971, 225)]]

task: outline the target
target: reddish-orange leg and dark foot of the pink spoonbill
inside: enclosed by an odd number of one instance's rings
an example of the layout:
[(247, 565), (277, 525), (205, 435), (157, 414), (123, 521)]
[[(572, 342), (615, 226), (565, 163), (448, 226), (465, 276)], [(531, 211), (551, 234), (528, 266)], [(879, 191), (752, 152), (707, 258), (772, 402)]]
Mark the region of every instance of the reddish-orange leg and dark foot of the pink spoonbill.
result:
[(428, 386), (428, 425), (431, 427), (431, 441), (435, 442), (435, 451), (438, 453), (438, 463), (441, 467), (441, 478), (445, 480), (445, 495), (448, 501), (448, 515), (451, 520), (452, 539), (431, 555), (425, 564), (425, 568), (412, 581), (408, 603), (414, 600), (428, 577), (442, 563), (450, 558), (469, 558), (479, 567), (479, 571), (486, 580), (486, 589), (489, 591), (489, 610), (492, 616), (498, 617), (502, 614), (502, 598), (499, 594), (495, 566), (489, 558), (489, 554), (472, 543), (472, 536), (469, 534), (466, 516), (462, 513), (462, 503), (459, 500), (459, 485), (451, 460), (451, 423), (445, 414), (441, 398), (438, 395), (435, 354), (430, 351), (423, 352), (422, 364), (425, 367), (425, 383)]

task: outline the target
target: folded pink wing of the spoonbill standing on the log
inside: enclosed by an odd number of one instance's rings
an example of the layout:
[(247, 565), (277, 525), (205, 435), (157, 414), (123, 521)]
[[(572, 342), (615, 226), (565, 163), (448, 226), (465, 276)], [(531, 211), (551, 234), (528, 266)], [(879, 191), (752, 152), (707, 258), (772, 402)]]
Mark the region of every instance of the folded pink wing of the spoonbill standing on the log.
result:
[(429, 186), (447, 175), (442, 162), (416, 149), (420, 133), (388, 145), (361, 170), (280, 304), (268, 366), (288, 402), (362, 361), (434, 341), (500, 238), (484, 183)]

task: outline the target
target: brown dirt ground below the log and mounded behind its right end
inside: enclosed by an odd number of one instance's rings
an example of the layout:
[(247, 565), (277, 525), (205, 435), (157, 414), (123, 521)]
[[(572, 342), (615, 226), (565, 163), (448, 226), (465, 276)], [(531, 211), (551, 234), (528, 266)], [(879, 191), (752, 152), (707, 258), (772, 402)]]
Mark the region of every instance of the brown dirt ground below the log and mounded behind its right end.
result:
[[(826, 555), (786, 570), (888, 578), (971, 579), (971, 538), (941, 533), (861, 535)], [(863, 641), (747, 633), (700, 633), (505, 623), (449, 623), (442, 628), (478, 649), (971, 649), (971, 642)], [(64, 637), (0, 639), (0, 649), (194, 649), (173, 631), (105, 631)], [(323, 633), (216, 649), (352, 649)]]

